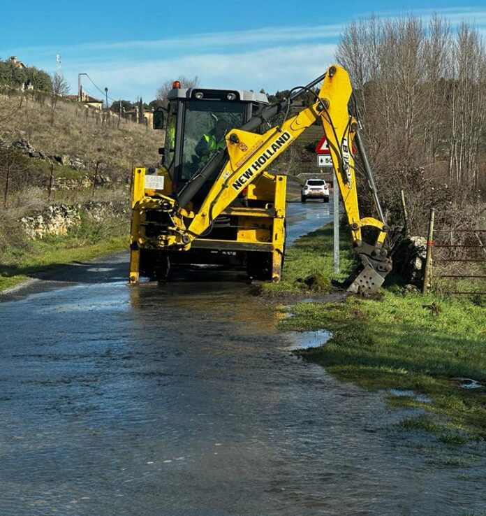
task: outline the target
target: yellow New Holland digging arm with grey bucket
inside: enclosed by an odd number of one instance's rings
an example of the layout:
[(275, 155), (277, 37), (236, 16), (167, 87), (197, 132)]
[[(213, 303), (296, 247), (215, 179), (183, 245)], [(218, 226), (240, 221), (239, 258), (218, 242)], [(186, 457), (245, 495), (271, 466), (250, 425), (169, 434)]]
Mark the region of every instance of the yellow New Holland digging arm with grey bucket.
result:
[[(272, 127), (264, 134), (256, 134), (253, 132), (256, 127), (269, 120), (272, 115), (288, 109), (290, 101), (297, 95), (290, 97), (289, 101), (265, 107), (260, 115), (246, 122), (240, 129), (228, 131), (226, 149), (216, 152), (206, 166), (177, 194), (176, 199), (161, 196), (157, 202), (170, 213), (172, 226), (167, 236), (164, 236), (162, 245), (189, 250), (194, 239), (204, 235), (212, 227), (216, 217), (235, 201), (245, 187), (263, 174), (274, 159), (285, 152), (308, 127), (317, 119), (321, 119), (353, 245), (361, 261), (358, 271), (348, 279), (348, 290), (374, 292), (380, 287), (385, 275), (392, 268), (387, 252), (383, 249), (388, 228), (358, 133), (358, 122), (348, 113), (348, 102), (352, 93), (351, 82), (344, 69), (333, 65), (324, 76), (303, 87), (297, 94), (310, 90), (311, 86), (321, 80), (323, 84), (312, 106), (288, 118), (280, 126)], [(360, 152), (380, 220), (374, 217), (360, 217), (352, 152), (355, 146)], [(220, 169), (221, 172), (200, 208), (194, 213), (191, 199), (216, 169)], [(363, 241), (363, 230), (367, 235), (370, 232), (374, 234), (372, 243)]]

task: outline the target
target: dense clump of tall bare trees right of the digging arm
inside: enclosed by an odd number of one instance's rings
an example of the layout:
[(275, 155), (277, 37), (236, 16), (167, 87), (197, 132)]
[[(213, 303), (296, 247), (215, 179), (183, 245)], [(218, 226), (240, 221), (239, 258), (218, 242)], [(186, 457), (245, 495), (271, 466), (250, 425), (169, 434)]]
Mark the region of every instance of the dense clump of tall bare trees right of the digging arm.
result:
[(478, 31), (463, 23), (455, 34), (437, 15), (429, 22), (373, 16), (348, 24), (337, 60), (350, 73), (392, 217), (399, 218), (399, 189), (406, 192), (413, 231), (425, 229), (430, 206), (448, 207), (443, 222), (466, 213), (486, 163), (486, 50)]

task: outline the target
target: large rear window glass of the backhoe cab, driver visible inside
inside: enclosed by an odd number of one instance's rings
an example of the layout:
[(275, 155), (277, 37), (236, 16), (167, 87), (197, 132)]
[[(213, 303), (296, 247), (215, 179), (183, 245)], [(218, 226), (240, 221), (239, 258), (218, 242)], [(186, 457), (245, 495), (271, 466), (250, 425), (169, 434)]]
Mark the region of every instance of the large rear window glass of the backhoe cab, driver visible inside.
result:
[[(202, 99), (186, 101), (185, 106), (179, 184), (191, 179), (219, 148), (226, 147), (225, 134), (242, 126), (246, 108), (245, 103), (238, 101)], [(218, 173), (216, 171), (214, 178)]]

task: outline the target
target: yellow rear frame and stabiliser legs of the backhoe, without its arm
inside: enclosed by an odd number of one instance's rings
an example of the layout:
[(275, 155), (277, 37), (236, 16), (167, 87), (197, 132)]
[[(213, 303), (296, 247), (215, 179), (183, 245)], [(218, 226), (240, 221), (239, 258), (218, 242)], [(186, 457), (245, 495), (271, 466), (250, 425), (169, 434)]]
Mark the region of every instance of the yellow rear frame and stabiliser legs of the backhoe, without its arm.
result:
[[(167, 252), (168, 245), (165, 236), (147, 234), (147, 228), (152, 225), (149, 215), (158, 210), (160, 201), (172, 194), (172, 185), (167, 171), (159, 170), (163, 175), (165, 187), (162, 189), (147, 189), (145, 187), (147, 170), (136, 168), (133, 177), (132, 219), (131, 219), (131, 257), (130, 282), (138, 282), (140, 278), (140, 253), (144, 250), (151, 252)], [(258, 201), (262, 206), (225, 206), (218, 210), (218, 215), (230, 217), (236, 227), (233, 238), (214, 239), (200, 236), (191, 241), (191, 245), (172, 246), (170, 258), (177, 261), (172, 253), (189, 252), (200, 260), (207, 256), (223, 254), (244, 254), (246, 260), (253, 261), (253, 269), (258, 263), (265, 267), (265, 279), (279, 281), (285, 247), (285, 213), (286, 213), (286, 176), (263, 173), (258, 180), (252, 182), (246, 192), (246, 200)], [(183, 210), (182, 215), (191, 220), (195, 216), (190, 210)], [(170, 246), (169, 246), (170, 247)], [(211, 260), (212, 261), (212, 260)], [(165, 264), (163, 264), (165, 265)], [(156, 272), (156, 271), (155, 271)], [(259, 277), (258, 271), (254, 271)]]

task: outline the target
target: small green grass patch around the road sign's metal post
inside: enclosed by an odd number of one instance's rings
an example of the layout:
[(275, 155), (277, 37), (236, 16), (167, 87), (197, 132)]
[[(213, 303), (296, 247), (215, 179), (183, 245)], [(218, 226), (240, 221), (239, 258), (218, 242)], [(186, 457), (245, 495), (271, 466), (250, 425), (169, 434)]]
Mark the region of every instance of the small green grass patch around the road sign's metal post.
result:
[[(282, 280), (264, 283), (260, 292), (267, 297), (327, 294), (335, 288), (331, 280), (344, 280), (346, 273), (335, 274), (333, 265), (332, 225), (329, 224), (302, 236), (286, 251)], [(352, 267), (353, 255), (349, 250), (347, 231), (341, 231), (341, 270)]]

